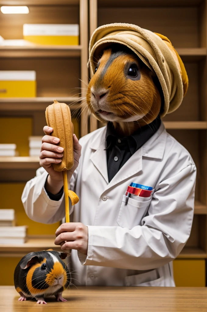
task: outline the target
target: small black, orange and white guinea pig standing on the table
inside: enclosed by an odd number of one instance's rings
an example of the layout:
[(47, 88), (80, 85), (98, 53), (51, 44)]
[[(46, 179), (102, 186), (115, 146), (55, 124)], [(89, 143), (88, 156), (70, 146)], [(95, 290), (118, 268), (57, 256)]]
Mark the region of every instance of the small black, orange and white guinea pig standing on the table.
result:
[(34, 297), (37, 303), (46, 304), (44, 296), (55, 295), (57, 301), (67, 301), (62, 298), (63, 290), (71, 281), (70, 272), (62, 261), (67, 255), (48, 249), (24, 256), (14, 271), (14, 285), (21, 296), (18, 300)]

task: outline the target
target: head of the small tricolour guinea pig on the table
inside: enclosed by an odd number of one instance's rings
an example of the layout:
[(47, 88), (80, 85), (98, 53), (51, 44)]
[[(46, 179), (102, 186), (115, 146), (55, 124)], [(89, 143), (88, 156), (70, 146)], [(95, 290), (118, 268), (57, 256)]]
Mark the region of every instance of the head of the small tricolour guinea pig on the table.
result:
[(70, 272), (62, 261), (66, 256), (65, 252), (51, 249), (31, 252), (24, 257), (21, 268), (27, 271), (26, 286), (32, 295), (54, 293), (69, 286)]

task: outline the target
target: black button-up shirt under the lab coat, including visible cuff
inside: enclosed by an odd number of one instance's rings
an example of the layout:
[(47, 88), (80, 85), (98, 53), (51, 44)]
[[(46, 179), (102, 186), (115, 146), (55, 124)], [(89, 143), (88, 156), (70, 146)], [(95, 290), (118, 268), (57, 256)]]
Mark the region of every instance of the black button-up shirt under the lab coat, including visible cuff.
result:
[[(160, 116), (150, 124), (139, 128), (132, 135), (121, 138), (115, 131), (112, 122), (108, 122), (106, 129), (106, 153), (108, 182), (110, 182), (119, 169), (128, 161), (128, 159), (145, 144), (153, 134), (159, 129), (161, 124)], [(45, 188), (46, 190), (46, 188)], [(50, 199), (58, 201), (62, 197), (63, 187), (58, 194), (52, 194), (47, 191)]]

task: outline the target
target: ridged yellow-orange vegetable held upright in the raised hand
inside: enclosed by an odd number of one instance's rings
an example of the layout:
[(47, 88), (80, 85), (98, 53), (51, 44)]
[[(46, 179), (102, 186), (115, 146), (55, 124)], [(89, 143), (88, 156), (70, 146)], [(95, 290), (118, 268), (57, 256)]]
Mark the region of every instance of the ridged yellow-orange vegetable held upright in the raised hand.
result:
[(70, 108), (65, 103), (54, 103), (46, 108), (47, 125), (53, 128), (52, 136), (60, 139), (57, 144), (64, 148), (61, 163), (53, 163), (55, 171), (70, 170), (74, 165), (73, 156), (73, 124), (71, 122)]

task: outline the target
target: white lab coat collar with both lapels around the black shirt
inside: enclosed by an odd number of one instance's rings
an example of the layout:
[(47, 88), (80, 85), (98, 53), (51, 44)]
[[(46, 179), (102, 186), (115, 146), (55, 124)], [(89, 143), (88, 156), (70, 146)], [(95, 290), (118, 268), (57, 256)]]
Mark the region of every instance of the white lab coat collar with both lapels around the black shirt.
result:
[(97, 131), (97, 134), (94, 136), (94, 139), (90, 144), (90, 148), (95, 150), (90, 159), (108, 184), (107, 188), (110, 188), (141, 171), (143, 156), (156, 159), (163, 158), (166, 145), (166, 130), (161, 122), (160, 128), (156, 133), (128, 159), (110, 183), (108, 183), (105, 135), (106, 127), (104, 127), (101, 132)]

